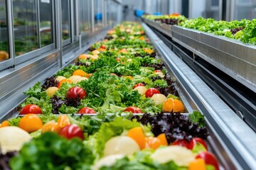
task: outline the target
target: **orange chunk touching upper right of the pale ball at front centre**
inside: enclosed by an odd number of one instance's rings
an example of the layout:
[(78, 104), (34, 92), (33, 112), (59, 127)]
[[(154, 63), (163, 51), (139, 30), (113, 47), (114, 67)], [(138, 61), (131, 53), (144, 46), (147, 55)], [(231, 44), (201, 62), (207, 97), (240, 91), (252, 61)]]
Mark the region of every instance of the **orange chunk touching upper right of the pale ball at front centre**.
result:
[(128, 137), (131, 137), (137, 142), (140, 149), (144, 149), (146, 145), (146, 139), (142, 127), (132, 128), (128, 131)]

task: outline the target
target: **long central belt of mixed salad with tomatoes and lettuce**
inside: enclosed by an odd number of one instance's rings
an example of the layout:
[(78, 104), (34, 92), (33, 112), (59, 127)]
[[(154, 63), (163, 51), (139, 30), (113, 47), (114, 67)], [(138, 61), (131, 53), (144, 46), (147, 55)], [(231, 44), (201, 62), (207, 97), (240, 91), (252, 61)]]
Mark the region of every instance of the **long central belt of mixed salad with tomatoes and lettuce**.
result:
[(0, 124), (0, 169), (219, 169), (203, 115), (183, 114), (139, 23), (24, 94), (20, 116)]

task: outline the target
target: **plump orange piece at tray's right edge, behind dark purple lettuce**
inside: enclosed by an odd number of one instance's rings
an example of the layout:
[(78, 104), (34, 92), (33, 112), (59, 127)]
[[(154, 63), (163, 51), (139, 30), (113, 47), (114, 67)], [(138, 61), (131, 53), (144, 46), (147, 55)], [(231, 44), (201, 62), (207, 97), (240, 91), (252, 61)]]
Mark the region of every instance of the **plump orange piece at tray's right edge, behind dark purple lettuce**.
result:
[(171, 111), (183, 112), (184, 106), (183, 106), (183, 103), (178, 99), (167, 98), (166, 101), (164, 101), (162, 109), (163, 111), (167, 111), (167, 112), (171, 112)]

